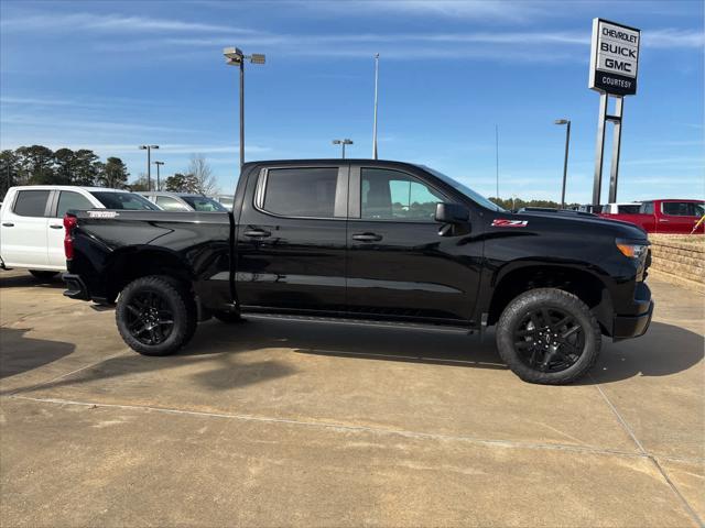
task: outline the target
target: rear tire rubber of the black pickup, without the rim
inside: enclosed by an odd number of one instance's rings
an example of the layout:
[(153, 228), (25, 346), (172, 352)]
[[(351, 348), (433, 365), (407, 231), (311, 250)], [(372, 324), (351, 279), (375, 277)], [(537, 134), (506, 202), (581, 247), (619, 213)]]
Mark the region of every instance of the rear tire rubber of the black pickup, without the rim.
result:
[[(172, 314), (173, 327), (169, 336), (156, 344), (142, 342), (128, 324), (128, 307), (135, 296), (148, 293), (155, 294)], [(177, 352), (191, 341), (198, 323), (196, 305), (187, 288), (171, 277), (160, 275), (137, 278), (128, 284), (120, 293), (115, 316), (122, 340), (143, 355), (170, 355)]]

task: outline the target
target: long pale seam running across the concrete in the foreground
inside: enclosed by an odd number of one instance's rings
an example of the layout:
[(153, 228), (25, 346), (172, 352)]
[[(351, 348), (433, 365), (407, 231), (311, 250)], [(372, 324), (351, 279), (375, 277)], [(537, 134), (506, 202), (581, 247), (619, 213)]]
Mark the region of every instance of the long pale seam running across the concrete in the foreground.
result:
[(149, 405), (101, 404), (101, 403), (93, 403), (93, 402), (76, 402), (76, 400), (63, 399), (63, 398), (37, 398), (37, 397), (20, 396), (20, 395), (10, 396), (10, 398), (23, 399), (23, 400), (43, 403), (43, 404), (76, 405), (82, 407), (104, 407), (104, 408), (115, 408), (115, 409), (124, 409), (124, 410), (142, 410), (142, 411), (163, 413), (163, 414), (170, 414), (170, 415), (186, 415), (186, 416), (199, 416), (199, 417), (209, 417), (209, 418), (245, 420), (245, 421), (259, 421), (259, 422), (269, 422), (269, 424), (284, 424), (284, 425), (291, 425), (291, 426), (318, 427), (318, 428), (341, 430), (341, 431), (358, 431), (358, 432), (369, 432), (373, 435), (401, 436), (405, 438), (453, 440), (453, 441), (462, 441), (462, 442), (469, 442), (469, 443), (478, 443), (482, 446), (500, 446), (500, 447), (514, 448), (514, 449), (542, 449), (542, 450), (549, 450), (549, 451), (551, 450), (573, 451), (578, 453), (618, 455), (618, 457), (638, 458), (638, 459), (649, 458), (647, 453), (636, 453), (636, 452), (622, 451), (618, 449), (600, 449), (600, 448), (592, 448), (592, 447), (584, 447), (584, 446), (570, 446), (570, 444), (563, 444), (563, 443), (531, 443), (531, 442), (517, 442), (512, 440), (492, 440), (492, 439), (481, 439), (481, 438), (468, 437), (468, 436), (454, 436), (454, 435), (443, 435), (443, 433), (434, 433), (434, 432), (408, 431), (403, 429), (381, 429), (381, 428), (375, 428), (375, 427), (368, 427), (368, 426), (349, 426), (345, 424), (304, 421), (304, 420), (294, 420), (290, 418), (273, 418), (273, 417), (252, 416), (252, 415), (234, 415), (228, 413), (209, 413), (209, 411), (203, 411), (203, 410), (183, 410), (183, 409), (173, 409), (167, 407), (152, 407)]

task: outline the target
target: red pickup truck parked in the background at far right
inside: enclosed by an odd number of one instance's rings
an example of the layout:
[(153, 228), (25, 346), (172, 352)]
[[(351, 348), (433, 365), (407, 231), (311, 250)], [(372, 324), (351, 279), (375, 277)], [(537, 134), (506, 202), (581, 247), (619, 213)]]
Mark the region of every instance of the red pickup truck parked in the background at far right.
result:
[[(631, 215), (599, 213), (610, 220), (636, 223), (648, 233), (680, 234), (690, 234), (704, 215), (705, 201), (677, 199), (642, 201), (639, 212)], [(705, 233), (705, 221), (701, 222), (695, 232)]]

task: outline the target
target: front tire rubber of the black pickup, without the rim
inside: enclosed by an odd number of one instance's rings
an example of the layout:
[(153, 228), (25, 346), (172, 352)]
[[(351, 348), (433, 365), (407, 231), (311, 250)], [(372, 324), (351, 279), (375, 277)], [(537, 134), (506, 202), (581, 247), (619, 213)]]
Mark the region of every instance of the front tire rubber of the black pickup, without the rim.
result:
[[(514, 330), (532, 310), (558, 309), (573, 316), (584, 332), (583, 351), (570, 367), (558, 372), (532, 369), (516, 349)], [(517, 296), (502, 311), (497, 323), (497, 349), (502, 361), (521, 380), (544, 385), (565, 385), (583, 377), (593, 367), (601, 346), (601, 332), (595, 316), (578, 297), (562, 289), (536, 288)]]

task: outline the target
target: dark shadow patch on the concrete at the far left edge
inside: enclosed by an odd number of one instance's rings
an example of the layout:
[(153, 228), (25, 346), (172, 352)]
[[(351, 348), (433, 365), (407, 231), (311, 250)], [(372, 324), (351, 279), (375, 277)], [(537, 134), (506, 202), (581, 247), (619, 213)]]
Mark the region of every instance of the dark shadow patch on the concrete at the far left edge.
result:
[(70, 354), (73, 343), (28, 338), (29, 328), (0, 328), (0, 378), (39, 369)]

